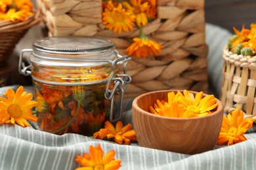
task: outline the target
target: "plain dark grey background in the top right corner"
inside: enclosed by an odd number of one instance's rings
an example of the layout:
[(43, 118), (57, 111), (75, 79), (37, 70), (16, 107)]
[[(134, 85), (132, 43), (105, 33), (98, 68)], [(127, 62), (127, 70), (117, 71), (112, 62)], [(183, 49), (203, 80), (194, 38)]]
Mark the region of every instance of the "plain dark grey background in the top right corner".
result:
[(219, 25), (234, 33), (256, 23), (256, 0), (205, 0), (205, 21)]

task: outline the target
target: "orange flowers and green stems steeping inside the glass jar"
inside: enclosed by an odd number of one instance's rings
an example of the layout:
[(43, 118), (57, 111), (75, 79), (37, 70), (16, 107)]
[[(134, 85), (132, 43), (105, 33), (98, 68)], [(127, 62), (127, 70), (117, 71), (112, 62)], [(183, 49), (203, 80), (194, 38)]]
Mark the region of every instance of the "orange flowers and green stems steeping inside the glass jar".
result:
[[(83, 68), (88, 70), (88, 68)], [(104, 68), (98, 68), (104, 71)], [(90, 73), (72, 76), (72, 74), (63, 75), (56, 79), (58, 71), (45, 73), (58, 82), (75, 82), (76, 80), (95, 82), (102, 80), (105, 76), (101, 71), (96, 75)], [(68, 69), (67, 69), (68, 71)], [(35, 76), (41, 77), (41, 74), (35, 73)], [(106, 74), (106, 73), (105, 73)], [(100, 75), (104, 75), (103, 77)], [(43, 77), (41, 77), (43, 78)], [(37, 115), (39, 117), (40, 129), (50, 133), (79, 133), (83, 135), (93, 135), (98, 131), (102, 124), (110, 117), (111, 103), (104, 97), (106, 84), (99, 86), (62, 86), (43, 84), (34, 82), (35, 96), (38, 102)], [(110, 84), (110, 90), (113, 85)]]

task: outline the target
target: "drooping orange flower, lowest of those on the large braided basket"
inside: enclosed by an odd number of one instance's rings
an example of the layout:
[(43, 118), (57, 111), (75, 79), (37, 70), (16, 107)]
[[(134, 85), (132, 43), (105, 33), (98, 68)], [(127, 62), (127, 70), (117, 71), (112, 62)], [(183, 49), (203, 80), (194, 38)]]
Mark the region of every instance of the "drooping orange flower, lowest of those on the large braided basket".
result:
[(156, 41), (148, 39), (148, 37), (134, 38), (133, 44), (126, 49), (129, 56), (135, 56), (137, 58), (147, 58), (148, 55), (154, 56), (161, 53), (161, 46)]

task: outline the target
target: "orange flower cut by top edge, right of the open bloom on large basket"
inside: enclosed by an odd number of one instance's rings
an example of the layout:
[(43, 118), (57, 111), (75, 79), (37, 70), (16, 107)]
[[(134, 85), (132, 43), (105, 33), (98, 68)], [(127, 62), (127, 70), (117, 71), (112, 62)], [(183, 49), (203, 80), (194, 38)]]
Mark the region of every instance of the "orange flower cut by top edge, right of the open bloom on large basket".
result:
[(146, 11), (150, 9), (148, 2), (142, 3), (142, 0), (130, 0), (131, 5), (126, 1), (123, 2), (123, 6), (127, 9), (127, 12), (134, 14), (136, 23), (140, 27), (148, 23)]

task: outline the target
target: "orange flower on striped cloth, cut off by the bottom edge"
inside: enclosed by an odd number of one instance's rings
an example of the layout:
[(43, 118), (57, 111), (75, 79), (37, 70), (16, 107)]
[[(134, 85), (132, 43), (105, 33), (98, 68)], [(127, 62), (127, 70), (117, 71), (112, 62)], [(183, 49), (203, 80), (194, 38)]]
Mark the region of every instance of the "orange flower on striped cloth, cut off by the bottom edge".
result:
[(89, 147), (89, 154), (85, 153), (83, 156), (77, 156), (75, 161), (80, 163), (83, 167), (77, 167), (75, 170), (88, 169), (104, 169), (115, 170), (121, 167), (121, 160), (116, 160), (116, 151), (110, 150), (105, 156), (100, 144), (98, 146)]

